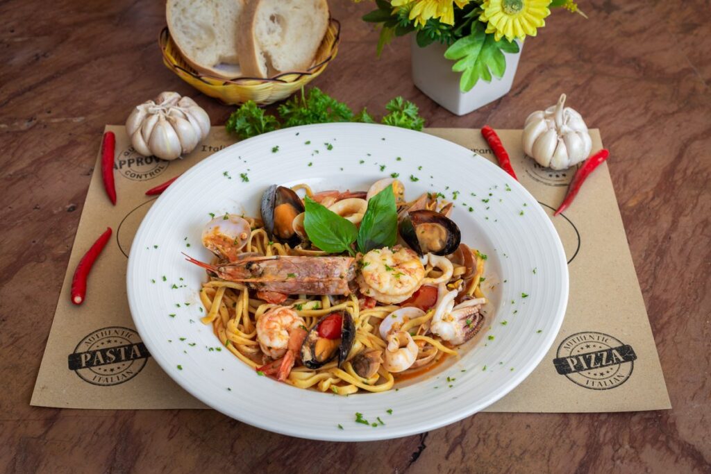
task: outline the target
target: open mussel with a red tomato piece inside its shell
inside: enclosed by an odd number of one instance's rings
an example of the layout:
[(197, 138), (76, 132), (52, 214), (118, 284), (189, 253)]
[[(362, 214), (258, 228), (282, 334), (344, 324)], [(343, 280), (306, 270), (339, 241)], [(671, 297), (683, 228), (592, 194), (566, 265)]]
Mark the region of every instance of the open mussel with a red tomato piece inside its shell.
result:
[(355, 324), (350, 313), (331, 313), (317, 323), (301, 345), (301, 362), (318, 369), (338, 356), (338, 367), (346, 362), (355, 340)]

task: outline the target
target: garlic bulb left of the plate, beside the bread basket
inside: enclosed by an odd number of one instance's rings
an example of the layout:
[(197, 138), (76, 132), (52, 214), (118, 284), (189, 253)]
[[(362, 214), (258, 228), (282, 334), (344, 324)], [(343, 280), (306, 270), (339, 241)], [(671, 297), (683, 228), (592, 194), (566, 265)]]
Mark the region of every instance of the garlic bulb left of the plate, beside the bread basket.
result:
[(208, 136), (210, 117), (190, 97), (161, 92), (131, 112), (126, 133), (141, 155), (174, 160), (193, 151)]

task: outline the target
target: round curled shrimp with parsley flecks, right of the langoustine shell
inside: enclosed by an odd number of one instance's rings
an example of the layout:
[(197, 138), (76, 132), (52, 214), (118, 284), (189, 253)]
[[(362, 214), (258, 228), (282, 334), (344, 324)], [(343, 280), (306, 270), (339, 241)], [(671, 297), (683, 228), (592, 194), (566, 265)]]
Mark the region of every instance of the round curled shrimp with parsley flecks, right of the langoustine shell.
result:
[(424, 279), (424, 266), (417, 254), (405, 247), (373, 249), (360, 260), (360, 292), (380, 303), (405, 301)]

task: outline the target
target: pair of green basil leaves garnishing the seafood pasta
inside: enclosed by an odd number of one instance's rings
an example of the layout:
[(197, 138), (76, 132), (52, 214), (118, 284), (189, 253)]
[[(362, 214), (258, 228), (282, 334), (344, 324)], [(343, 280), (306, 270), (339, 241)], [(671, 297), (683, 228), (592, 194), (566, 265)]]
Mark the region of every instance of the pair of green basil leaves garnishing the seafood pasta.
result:
[(332, 254), (348, 252), (355, 255), (352, 244), (358, 251), (392, 247), (397, 241), (397, 208), (392, 185), (368, 200), (368, 210), (363, 215), (358, 230), (353, 222), (341, 217), (325, 206), (306, 196), (304, 230), (311, 242)]

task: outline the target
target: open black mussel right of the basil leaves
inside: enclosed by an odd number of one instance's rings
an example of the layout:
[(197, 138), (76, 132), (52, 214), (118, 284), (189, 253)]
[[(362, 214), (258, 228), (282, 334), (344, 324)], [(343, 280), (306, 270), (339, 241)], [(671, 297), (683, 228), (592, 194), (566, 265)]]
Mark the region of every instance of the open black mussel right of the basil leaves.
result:
[(419, 255), (449, 255), (459, 247), (459, 226), (434, 210), (403, 212), (398, 225), (400, 236)]

